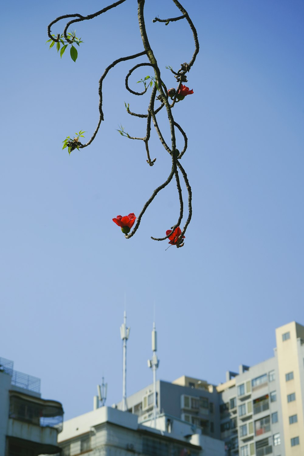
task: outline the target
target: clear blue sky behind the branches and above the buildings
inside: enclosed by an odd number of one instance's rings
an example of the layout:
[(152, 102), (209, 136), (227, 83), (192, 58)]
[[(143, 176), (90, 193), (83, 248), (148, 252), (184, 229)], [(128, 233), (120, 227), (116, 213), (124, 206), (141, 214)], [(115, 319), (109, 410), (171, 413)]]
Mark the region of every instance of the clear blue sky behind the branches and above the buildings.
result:
[[(21, 1), (2, 5), (0, 356), (41, 378), (45, 398), (62, 401), (66, 419), (93, 408), (96, 384), (107, 404), (122, 396), (124, 293), (127, 297), (127, 393), (152, 381), (153, 305), (158, 378), (187, 374), (211, 383), (226, 370), (273, 356), (274, 329), (304, 324), (304, 3), (300, 0), (182, 1), (200, 52), (174, 109), (189, 145), (182, 158), (193, 217), (182, 249), (155, 242), (179, 212), (175, 183), (155, 198), (136, 235), (112, 222), (138, 215), (170, 172), (155, 132), (146, 163), (142, 136), (149, 95), (124, 88), (124, 62), (103, 85), (104, 122), (92, 145), (62, 150), (98, 122), (98, 79), (114, 59), (142, 51), (137, 1), (77, 24), (84, 43), (74, 63), (48, 50), (57, 16), (87, 15), (106, 1)], [(146, 0), (151, 46), (167, 87), (194, 50), (169, 0)], [(65, 23), (53, 28), (61, 32)], [(139, 69), (130, 85), (149, 74)], [(159, 114), (165, 138), (169, 130)], [(181, 137), (178, 136), (180, 148)]]

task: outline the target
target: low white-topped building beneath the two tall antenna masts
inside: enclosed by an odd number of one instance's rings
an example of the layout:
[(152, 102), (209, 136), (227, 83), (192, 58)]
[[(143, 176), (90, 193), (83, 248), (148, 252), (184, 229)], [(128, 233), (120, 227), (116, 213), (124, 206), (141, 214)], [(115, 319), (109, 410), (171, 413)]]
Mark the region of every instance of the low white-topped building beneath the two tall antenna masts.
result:
[[(101, 407), (64, 422), (58, 445), (62, 456), (224, 456), (224, 442), (196, 434), (196, 427), (174, 417), (138, 423), (138, 417)], [(153, 422), (154, 425), (154, 422)]]

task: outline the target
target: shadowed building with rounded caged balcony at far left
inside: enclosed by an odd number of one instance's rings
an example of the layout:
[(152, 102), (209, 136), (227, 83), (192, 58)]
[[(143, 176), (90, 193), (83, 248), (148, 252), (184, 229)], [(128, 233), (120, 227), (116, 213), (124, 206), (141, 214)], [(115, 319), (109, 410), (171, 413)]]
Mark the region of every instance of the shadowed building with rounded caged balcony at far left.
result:
[(60, 402), (41, 399), (40, 378), (14, 370), (0, 358), (0, 455), (38, 456), (60, 451)]

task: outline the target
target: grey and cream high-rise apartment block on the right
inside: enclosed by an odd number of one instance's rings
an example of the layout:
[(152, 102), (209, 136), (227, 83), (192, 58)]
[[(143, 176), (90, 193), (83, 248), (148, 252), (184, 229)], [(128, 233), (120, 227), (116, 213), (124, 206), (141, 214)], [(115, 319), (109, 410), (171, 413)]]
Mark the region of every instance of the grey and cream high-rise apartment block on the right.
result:
[[(304, 326), (276, 330), (274, 357), (227, 372), (226, 382), (180, 377), (157, 381), (157, 411), (225, 442), (227, 456), (304, 455)], [(120, 408), (121, 404), (116, 404)], [(129, 412), (149, 422), (153, 385), (127, 398)]]

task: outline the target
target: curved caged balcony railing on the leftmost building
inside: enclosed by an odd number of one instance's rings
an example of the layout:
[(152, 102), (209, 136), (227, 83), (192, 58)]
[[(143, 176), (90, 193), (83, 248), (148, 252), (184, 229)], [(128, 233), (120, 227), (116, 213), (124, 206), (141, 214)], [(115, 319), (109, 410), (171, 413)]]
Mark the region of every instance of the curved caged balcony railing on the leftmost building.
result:
[(41, 402), (37, 403), (18, 396), (10, 396), (9, 416), (15, 420), (26, 421), (41, 427), (56, 428), (58, 432), (62, 431), (63, 409), (55, 401), (41, 399)]

